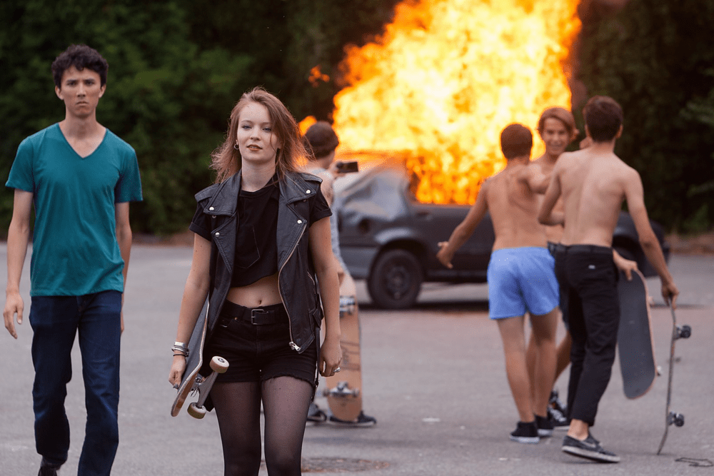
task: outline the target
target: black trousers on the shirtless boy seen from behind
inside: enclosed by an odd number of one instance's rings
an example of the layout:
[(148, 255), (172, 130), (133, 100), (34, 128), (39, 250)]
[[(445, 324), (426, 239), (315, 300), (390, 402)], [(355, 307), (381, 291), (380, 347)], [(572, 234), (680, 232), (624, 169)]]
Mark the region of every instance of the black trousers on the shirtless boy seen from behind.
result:
[(560, 299), (568, 303), (573, 338), (568, 417), (592, 426), (610, 382), (620, 324), (613, 250), (596, 245), (558, 245), (555, 274)]

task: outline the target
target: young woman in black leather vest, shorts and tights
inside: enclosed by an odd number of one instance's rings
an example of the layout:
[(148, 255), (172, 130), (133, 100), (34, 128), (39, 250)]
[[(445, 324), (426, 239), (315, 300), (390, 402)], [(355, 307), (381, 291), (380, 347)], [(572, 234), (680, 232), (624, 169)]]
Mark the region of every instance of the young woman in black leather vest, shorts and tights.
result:
[(304, 157), (293, 116), (255, 88), (233, 108), (213, 153), (216, 183), (196, 194), (169, 382), (181, 381), (191, 351), (184, 343), (208, 298), (204, 361), (221, 355), (230, 364), (207, 402), (216, 408), (226, 476), (258, 475), (261, 403), (268, 474), (301, 473), (316, 369), (334, 375), (342, 359), (331, 211), (319, 179), (298, 171)]

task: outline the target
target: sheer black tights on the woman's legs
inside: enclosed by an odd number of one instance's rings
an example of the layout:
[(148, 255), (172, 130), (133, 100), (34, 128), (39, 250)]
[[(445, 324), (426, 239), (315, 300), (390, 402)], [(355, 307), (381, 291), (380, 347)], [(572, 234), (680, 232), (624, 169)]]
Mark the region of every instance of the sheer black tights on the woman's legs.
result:
[(300, 475), (313, 386), (293, 377), (216, 383), (211, 399), (223, 442), (225, 476), (256, 476), (261, 467), (261, 397), (268, 475)]

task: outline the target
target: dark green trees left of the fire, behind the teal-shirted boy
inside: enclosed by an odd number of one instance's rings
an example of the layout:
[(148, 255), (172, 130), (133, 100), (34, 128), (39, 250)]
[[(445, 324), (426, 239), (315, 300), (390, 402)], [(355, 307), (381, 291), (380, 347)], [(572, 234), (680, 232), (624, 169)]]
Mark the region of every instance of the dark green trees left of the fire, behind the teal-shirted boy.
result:
[[(20, 141), (64, 117), (50, 64), (69, 44), (109, 61), (99, 121), (136, 149), (136, 231), (185, 230), (193, 193), (241, 93), (265, 86), (300, 120), (329, 118), (343, 46), (378, 34), (397, 0), (4, 0), (0, 3), (0, 176)], [(329, 81), (308, 81), (321, 66)], [(0, 235), (12, 192), (0, 191)]]

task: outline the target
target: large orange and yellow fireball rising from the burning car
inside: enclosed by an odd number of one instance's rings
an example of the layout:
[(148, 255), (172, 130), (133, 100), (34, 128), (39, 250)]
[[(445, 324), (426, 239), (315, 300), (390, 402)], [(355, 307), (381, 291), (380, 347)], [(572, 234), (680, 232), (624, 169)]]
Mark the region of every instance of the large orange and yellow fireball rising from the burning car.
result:
[[(406, 155), (421, 202), (473, 203), (505, 166), (499, 135), (535, 133), (548, 106), (570, 107), (565, 69), (578, 0), (422, 0), (396, 7), (378, 42), (349, 47), (335, 97), (343, 148)], [(565, 71), (564, 71), (565, 70)]]

